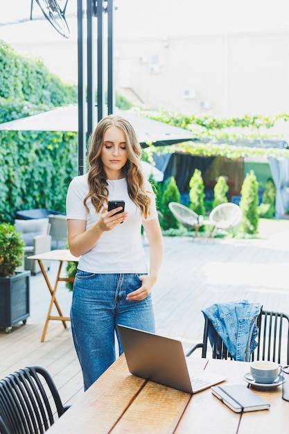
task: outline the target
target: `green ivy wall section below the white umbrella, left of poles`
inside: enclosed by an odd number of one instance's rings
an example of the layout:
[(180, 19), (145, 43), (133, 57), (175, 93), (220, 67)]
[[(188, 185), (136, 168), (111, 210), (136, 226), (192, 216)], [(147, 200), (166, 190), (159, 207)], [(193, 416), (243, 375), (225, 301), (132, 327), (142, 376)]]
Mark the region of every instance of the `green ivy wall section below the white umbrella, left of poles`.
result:
[(0, 131), (0, 221), (21, 209), (65, 211), (67, 187), (78, 175), (76, 132)]

